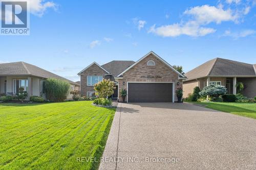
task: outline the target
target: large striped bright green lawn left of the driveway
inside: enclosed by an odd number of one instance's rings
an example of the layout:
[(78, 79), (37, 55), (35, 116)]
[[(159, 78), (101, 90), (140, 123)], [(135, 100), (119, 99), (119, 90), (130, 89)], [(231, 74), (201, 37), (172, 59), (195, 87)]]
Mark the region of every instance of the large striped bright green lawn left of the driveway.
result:
[(0, 169), (97, 169), (115, 109), (90, 101), (0, 104)]

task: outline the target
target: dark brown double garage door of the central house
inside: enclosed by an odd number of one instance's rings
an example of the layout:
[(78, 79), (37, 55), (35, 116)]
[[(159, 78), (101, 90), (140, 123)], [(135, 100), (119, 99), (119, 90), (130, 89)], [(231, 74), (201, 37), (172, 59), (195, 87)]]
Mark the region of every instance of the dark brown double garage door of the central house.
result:
[(173, 102), (173, 83), (128, 83), (128, 102)]

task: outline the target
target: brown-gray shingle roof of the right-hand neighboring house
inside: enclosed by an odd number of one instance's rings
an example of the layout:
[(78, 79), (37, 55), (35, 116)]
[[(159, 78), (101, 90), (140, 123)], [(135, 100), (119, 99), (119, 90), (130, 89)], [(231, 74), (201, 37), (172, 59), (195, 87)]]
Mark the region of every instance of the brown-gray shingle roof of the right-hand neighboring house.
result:
[(202, 65), (188, 71), (185, 76), (188, 78), (186, 81), (194, 80), (207, 76), (220, 76), (220, 77), (243, 77), (243, 76), (256, 76), (253, 64), (242, 63), (238, 61), (215, 58), (209, 60)]

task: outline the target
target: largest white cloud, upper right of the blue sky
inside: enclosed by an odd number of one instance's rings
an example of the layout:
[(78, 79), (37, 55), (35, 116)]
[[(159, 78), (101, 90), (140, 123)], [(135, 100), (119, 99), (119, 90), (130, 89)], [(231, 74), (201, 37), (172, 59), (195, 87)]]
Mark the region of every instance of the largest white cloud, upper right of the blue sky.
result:
[(176, 37), (180, 35), (187, 35), (191, 37), (205, 36), (207, 34), (215, 33), (217, 30), (205, 27), (211, 22), (220, 24), (223, 21), (233, 21), (238, 23), (239, 15), (231, 9), (223, 9), (222, 5), (218, 7), (203, 5), (185, 10), (183, 13), (190, 16), (187, 21), (173, 23), (172, 25), (165, 25), (157, 27), (154, 25), (150, 28), (148, 33), (155, 33), (163, 37)]

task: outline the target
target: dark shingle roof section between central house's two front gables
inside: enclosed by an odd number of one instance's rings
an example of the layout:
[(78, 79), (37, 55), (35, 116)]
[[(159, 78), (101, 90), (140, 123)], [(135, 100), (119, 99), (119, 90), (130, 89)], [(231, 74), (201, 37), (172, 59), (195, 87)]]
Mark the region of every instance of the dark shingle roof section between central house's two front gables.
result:
[(134, 61), (111, 61), (109, 63), (101, 65), (104, 69), (108, 70), (113, 77), (116, 77), (120, 74), (123, 70), (128, 68), (129, 66), (133, 65)]

